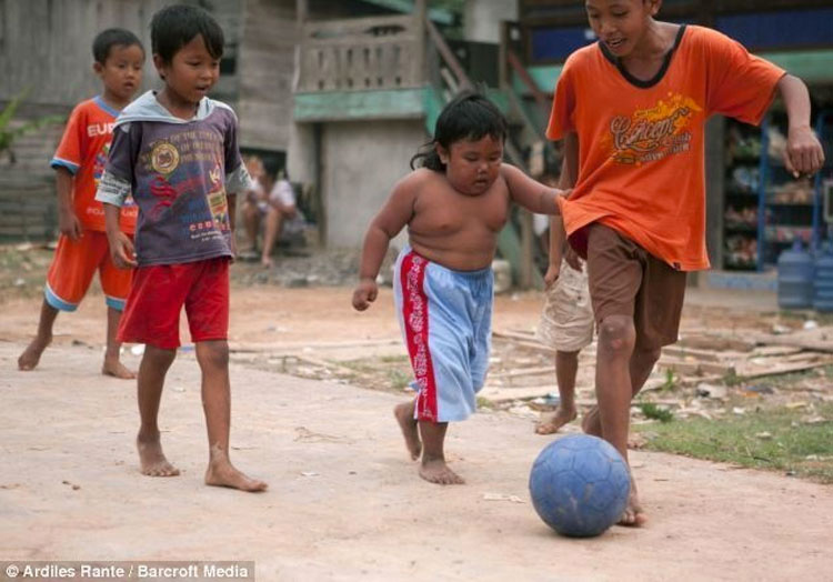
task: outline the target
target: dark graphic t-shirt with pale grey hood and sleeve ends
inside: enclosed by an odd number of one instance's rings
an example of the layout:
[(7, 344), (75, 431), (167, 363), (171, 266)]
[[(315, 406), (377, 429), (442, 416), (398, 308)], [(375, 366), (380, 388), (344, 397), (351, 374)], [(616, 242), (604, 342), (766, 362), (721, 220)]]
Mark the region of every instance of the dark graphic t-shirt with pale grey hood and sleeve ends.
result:
[(118, 204), (113, 198), (132, 191), (140, 265), (231, 257), (227, 185), (247, 175), (233, 111), (204, 100), (192, 120), (164, 119), (167, 111), (150, 98), (151, 114), (117, 121), (98, 198)]

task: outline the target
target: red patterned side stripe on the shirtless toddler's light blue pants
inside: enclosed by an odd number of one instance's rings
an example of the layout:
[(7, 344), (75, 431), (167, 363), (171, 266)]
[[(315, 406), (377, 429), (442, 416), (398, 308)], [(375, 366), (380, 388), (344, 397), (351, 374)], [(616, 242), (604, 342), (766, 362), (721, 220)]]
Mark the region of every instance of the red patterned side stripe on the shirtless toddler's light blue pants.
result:
[(408, 354), (419, 385), (416, 419), (436, 422), (436, 382), (428, 349), (428, 297), (424, 290), (426, 268), (428, 261), (413, 251), (402, 259), (402, 315)]

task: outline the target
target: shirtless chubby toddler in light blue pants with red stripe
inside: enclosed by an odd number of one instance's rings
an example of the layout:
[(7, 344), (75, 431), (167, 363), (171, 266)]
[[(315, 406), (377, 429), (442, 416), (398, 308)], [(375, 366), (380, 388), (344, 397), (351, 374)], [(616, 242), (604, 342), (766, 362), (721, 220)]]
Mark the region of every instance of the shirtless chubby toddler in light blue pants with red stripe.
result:
[[(353, 307), (377, 299), (377, 275), (390, 240), (408, 227), (399, 254), (394, 300), (418, 387), (394, 414), (420, 475), (432, 483), (463, 483), (445, 464), (450, 421), (475, 410), (489, 365), (492, 260), (498, 233), (514, 201), (533, 212), (558, 212), (558, 190), (503, 164), (506, 121), (475, 93), (451, 101), (436, 120), (431, 149), (393, 188), (364, 237)], [(420, 442), (420, 434), (422, 442)]]

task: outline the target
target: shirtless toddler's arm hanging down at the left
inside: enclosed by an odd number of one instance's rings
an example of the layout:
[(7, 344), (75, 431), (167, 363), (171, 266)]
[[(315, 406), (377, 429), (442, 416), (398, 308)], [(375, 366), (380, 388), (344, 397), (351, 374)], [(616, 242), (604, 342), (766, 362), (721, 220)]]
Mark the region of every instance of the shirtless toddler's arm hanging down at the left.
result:
[(375, 301), (379, 289), (377, 275), (388, 252), (391, 239), (411, 221), (420, 185), (430, 170), (416, 170), (393, 187), (382, 210), (373, 218), (364, 234), (359, 284), (353, 291), (353, 308), (364, 311)]

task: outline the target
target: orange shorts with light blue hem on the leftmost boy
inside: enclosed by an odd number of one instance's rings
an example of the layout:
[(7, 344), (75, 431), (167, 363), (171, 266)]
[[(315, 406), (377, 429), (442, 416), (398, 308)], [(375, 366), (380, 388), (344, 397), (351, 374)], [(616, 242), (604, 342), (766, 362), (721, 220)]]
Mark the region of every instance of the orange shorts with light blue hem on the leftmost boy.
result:
[(107, 234), (84, 230), (78, 241), (61, 235), (47, 274), (47, 303), (61, 311), (76, 311), (96, 271), (99, 272), (107, 304), (123, 310), (133, 270), (119, 269), (113, 264)]

